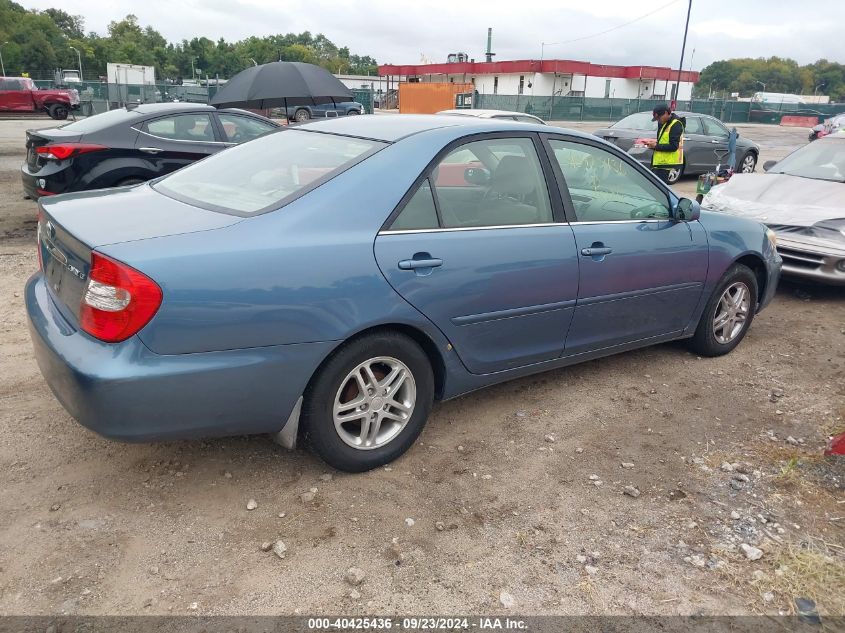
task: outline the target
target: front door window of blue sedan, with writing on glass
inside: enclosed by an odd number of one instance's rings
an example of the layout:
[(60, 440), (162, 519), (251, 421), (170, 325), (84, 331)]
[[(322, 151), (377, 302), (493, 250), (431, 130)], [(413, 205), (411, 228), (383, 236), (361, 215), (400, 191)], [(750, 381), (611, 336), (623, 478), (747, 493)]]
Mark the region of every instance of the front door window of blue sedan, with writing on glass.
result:
[(669, 199), (632, 165), (611, 152), (571, 141), (550, 141), (579, 222), (671, 216)]

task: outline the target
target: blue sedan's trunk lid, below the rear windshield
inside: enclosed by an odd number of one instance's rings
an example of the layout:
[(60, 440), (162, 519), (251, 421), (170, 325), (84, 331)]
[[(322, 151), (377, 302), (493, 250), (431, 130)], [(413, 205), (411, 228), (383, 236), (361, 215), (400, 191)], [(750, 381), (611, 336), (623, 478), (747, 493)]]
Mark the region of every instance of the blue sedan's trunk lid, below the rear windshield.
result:
[(61, 311), (77, 323), (93, 250), (243, 221), (172, 200), (147, 185), (42, 198), (39, 207), (38, 249), (44, 279)]

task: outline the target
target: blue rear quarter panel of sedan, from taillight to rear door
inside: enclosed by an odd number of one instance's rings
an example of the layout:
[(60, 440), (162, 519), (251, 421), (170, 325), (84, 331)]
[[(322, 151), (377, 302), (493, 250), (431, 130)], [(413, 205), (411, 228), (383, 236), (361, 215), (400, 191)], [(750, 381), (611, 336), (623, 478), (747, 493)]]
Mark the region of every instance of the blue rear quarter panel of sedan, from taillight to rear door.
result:
[(373, 243), (440, 146), (430, 138), (389, 146), (288, 206), (227, 228), (101, 247), (162, 288), (141, 339), (183, 354), (342, 341), (380, 323), (437, 337), (388, 285)]

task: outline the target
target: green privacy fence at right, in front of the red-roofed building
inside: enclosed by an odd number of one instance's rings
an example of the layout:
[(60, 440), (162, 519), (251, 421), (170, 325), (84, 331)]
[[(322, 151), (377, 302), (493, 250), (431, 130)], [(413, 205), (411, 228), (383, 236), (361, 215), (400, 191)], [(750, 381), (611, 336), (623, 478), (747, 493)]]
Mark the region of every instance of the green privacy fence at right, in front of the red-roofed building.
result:
[[(597, 99), (590, 97), (539, 97), (529, 95), (475, 96), (475, 107), (527, 112), (547, 121), (618, 121), (635, 112), (648, 112), (664, 99)], [(784, 115), (825, 118), (845, 111), (845, 105), (766, 104), (731, 100), (678, 102), (678, 110), (709, 114), (726, 123), (780, 123)]]

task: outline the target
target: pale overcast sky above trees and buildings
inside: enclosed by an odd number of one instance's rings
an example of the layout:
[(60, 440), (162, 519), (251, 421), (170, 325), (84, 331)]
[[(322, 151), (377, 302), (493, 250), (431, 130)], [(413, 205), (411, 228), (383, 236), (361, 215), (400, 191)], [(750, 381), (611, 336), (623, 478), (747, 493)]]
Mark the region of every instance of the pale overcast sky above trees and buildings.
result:
[[(680, 58), (687, 0), (17, 0), (85, 18), (86, 31), (134, 13), (169, 41), (205, 35), (239, 40), (251, 35), (324, 33), (352, 53), (379, 63), (445, 62), (451, 52), (483, 60), (493, 27), (497, 60), (575, 59), (622, 65), (672, 66)], [(661, 7), (663, 7), (661, 9)], [(653, 15), (610, 33), (589, 37)], [(800, 11), (799, 11), (800, 9)], [(809, 16), (809, 17), (808, 17)], [(730, 57), (791, 57), (809, 63), (845, 62), (845, 2), (803, 0), (693, 0), (684, 69), (700, 70)], [(572, 41), (579, 38), (580, 41)], [(691, 60), (695, 49), (695, 56)]]

